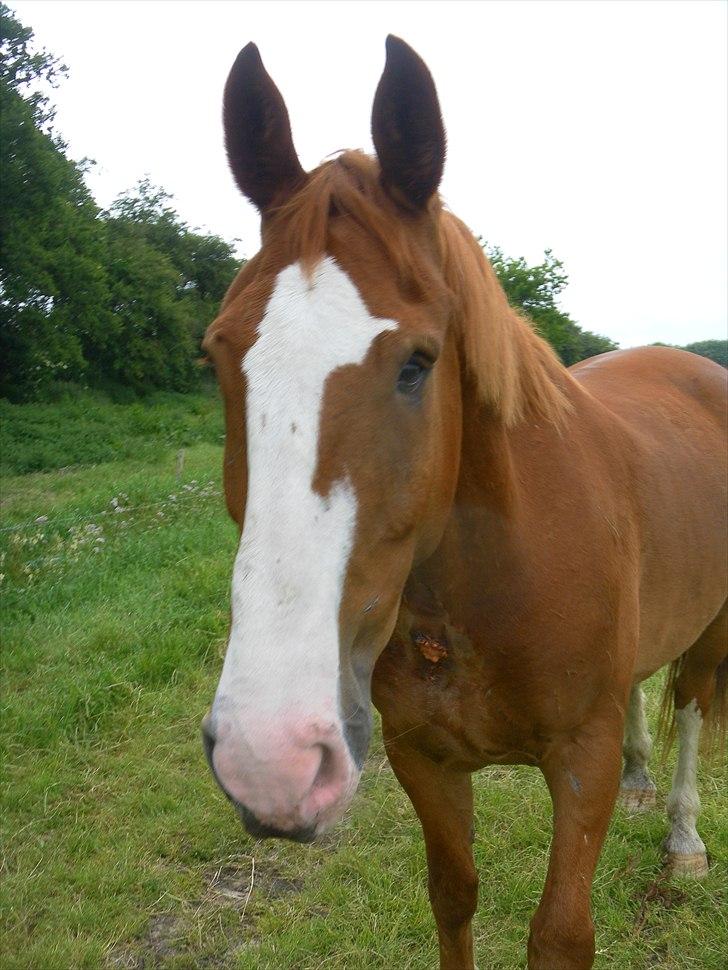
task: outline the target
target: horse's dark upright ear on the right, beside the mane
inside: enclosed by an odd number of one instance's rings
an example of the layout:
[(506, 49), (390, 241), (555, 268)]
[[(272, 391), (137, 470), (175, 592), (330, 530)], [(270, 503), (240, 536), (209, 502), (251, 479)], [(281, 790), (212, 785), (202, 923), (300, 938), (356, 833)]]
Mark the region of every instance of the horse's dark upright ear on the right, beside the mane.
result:
[(399, 37), (387, 37), (387, 61), (372, 109), (372, 138), (390, 194), (424, 209), (445, 164), (445, 128), (427, 65)]

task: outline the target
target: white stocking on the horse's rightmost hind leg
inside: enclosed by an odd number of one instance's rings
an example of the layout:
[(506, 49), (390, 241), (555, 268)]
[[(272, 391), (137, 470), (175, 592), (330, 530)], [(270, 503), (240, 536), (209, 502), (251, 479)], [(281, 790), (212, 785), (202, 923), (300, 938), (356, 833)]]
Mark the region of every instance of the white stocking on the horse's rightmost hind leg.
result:
[(672, 779), (672, 790), (667, 798), (667, 814), (672, 828), (665, 842), (669, 853), (694, 855), (705, 852), (703, 840), (695, 823), (700, 812), (697, 765), (698, 743), (703, 718), (696, 700), (675, 712), (678, 733), (678, 757)]

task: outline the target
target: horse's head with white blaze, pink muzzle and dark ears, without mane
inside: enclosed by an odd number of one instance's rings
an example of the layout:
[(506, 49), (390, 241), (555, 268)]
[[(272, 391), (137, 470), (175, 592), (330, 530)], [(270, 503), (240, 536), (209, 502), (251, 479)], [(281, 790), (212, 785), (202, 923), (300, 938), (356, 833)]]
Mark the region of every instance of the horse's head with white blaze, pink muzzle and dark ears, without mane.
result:
[[(446, 295), (404, 292), (387, 247), (350, 214), (330, 219), (323, 255), (297, 258), (280, 205), (295, 203), (306, 176), (251, 46), (230, 75), (225, 122), (234, 174), (264, 221), (261, 252), (205, 341), (225, 399), (225, 491), (241, 539), (203, 733), (249, 831), (304, 840), (356, 788), (374, 663), (413, 563), (442, 534), (459, 454), (458, 361)], [(436, 277), (428, 201), (444, 133), (426, 68), (398, 41), (373, 131), (384, 224), (406, 220), (408, 245)]]

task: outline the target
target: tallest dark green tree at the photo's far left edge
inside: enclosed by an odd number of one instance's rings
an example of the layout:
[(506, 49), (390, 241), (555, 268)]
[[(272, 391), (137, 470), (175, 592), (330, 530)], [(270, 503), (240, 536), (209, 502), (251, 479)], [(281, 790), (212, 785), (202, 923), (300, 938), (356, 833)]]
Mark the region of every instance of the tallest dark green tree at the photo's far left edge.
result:
[(0, 37), (0, 394), (19, 400), (83, 374), (108, 292), (98, 209), (33, 89), (65, 68), (31, 52), (32, 31), (4, 4)]

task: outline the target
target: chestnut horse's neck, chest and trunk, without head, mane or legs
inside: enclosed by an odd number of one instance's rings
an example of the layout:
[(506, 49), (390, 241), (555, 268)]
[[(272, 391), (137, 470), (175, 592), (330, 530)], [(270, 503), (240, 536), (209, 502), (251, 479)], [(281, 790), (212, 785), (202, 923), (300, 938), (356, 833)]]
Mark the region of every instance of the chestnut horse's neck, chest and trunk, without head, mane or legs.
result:
[(453, 767), (540, 763), (605, 685), (621, 696), (675, 660), (725, 601), (725, 371), (644, 348), (571, 373), (562, 428), (504, 431), (464, 402), (448, 526), (375, 668), (392, 733)]

